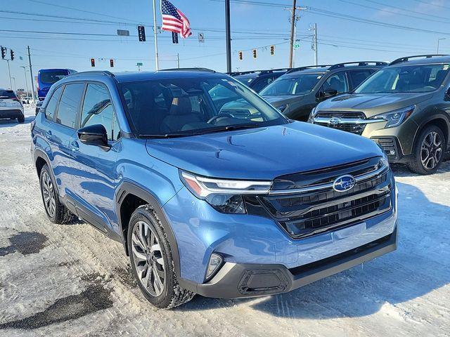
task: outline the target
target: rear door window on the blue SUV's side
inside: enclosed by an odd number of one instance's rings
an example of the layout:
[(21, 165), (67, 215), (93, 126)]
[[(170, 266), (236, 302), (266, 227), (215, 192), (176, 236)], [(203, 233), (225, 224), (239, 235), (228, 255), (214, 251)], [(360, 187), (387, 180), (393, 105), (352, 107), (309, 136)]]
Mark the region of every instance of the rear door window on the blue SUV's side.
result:
[(70, 128), (77, 127), (77, 112), (82, 99), (84, 83), (67, 84), (61, 97), (56, 122)]

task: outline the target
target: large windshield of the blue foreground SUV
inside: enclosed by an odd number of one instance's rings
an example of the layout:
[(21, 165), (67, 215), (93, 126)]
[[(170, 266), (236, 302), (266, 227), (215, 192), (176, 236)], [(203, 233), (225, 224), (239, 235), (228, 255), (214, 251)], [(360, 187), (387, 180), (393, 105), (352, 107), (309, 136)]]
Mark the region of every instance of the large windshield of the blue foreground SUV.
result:
[(229, 77), (126, 82), (120, 84), (120, 93), (130, 124), (141, 137), (192, 136), (287, 123), (278, 110)]

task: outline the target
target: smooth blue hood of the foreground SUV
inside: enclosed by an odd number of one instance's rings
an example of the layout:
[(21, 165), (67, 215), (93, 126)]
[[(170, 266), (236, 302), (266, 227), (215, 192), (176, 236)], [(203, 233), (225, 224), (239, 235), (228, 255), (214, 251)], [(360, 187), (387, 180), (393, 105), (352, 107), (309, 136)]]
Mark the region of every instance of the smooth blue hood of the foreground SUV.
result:
[(146, 147), (151, 156), (201, 176), (262, 180), (383, 155), (371, 140), (302, 122), (152, 139)]

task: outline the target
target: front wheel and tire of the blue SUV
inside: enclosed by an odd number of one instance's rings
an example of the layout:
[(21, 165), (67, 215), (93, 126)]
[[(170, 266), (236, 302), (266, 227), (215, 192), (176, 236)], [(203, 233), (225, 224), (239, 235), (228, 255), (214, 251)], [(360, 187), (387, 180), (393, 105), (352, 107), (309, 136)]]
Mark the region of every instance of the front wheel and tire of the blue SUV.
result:
[(128, 228), (131, 269), (143, 296), (161, 309), (175, 308), (191, 300), (195, 293), (179, 286), (167, 235), (153, 209), (149, 205), (139, 206), (131, 215)]

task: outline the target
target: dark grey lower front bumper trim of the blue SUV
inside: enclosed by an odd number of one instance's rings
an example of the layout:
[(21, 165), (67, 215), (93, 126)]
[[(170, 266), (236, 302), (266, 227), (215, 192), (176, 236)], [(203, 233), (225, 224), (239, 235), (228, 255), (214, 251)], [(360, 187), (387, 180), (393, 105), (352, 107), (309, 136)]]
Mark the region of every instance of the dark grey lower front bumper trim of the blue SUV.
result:
[(288, 269), (277, 264), (225, 263), (205, 284), (183, 284), (213, 298), (245, 298), (286, 293), (397, 249), (397, 227), (386, 237), (336, 256)]

